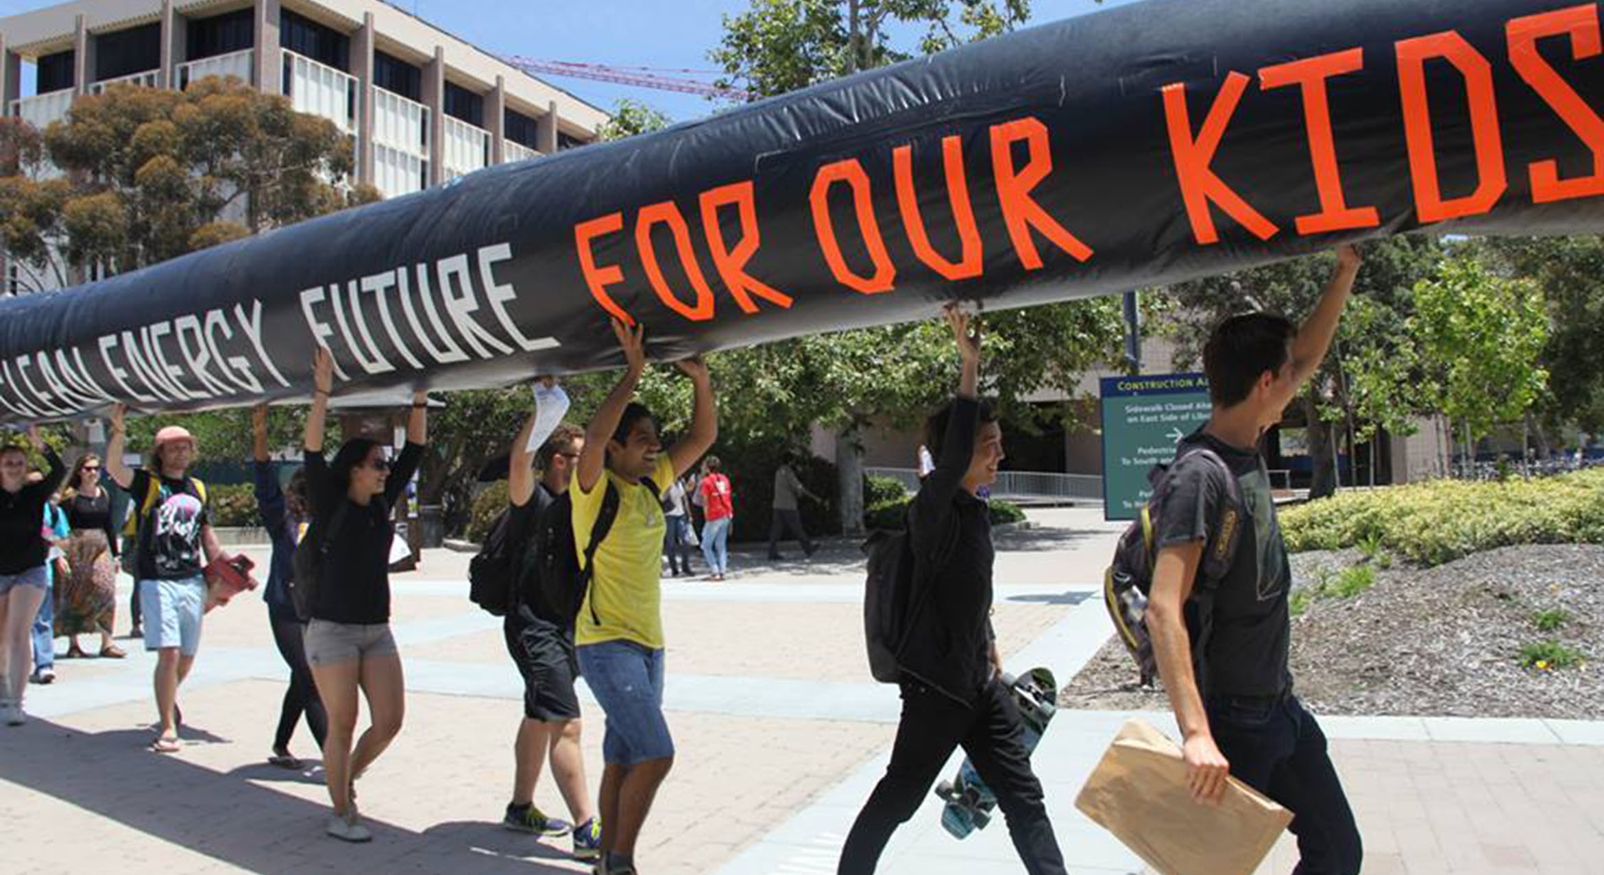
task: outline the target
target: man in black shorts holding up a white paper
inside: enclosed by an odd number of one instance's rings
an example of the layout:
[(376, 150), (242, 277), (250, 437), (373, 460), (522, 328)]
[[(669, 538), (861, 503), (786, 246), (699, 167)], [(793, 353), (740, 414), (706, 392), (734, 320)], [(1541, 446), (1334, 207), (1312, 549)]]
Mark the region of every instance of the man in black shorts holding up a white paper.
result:
[[(579, 748), (579, 696), (574, 679), (579, 663), (574, 655), (574, 619), (550, 604), (541, 587), (534, 534), (549, 513), (569, 513), (568, 484), (585, 436), (576, 426), (558, 425), (539, 452), (528, 449), (537, 413), (531, 413), (523, 431), (512, 442), (507, 471), (505, 534), (512, 562), (512, 588), (502, 630), (507, 652), (523, 676), (523, 721), (513, 744), (512, 801), (502, 825), (536, 835), (573, 833), (574, 859), (595, 859), (602, 853), (602, 822), (590, 808), (585, 790), (585, 761)], [(542, 471), (536, 481), (534, 470)], [(552, 508), (557, 508), (552, 511)], [(541, 768), (550, 760), (552, 779), (568, 803), (573, 824), (549, 817), (534, 806), (534, 785)]]

